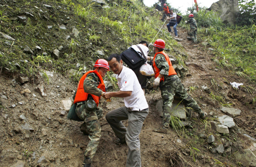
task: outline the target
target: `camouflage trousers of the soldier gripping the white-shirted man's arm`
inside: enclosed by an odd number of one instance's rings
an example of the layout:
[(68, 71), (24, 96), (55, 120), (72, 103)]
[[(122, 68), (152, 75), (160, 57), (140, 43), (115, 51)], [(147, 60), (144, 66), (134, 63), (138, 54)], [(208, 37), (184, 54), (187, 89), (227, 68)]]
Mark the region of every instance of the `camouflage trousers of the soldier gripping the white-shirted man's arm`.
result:
[[(102, 109), (97, 107), (97, 109), (88, 111), (83, 103), (77, 103), (76, 115), (84, 120), (86, 130), (89, 134), (90, 142), (87, 145), (86, 151), (84, 152), (84, 163), (92, 163), (92, 158), (94, 157), (100, 140), (100, 124), (98, 121), (98, 115), (102, 117)], [(98, 115), (97, 115), (98, 114)]]

